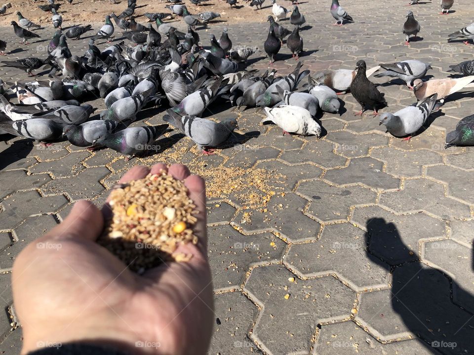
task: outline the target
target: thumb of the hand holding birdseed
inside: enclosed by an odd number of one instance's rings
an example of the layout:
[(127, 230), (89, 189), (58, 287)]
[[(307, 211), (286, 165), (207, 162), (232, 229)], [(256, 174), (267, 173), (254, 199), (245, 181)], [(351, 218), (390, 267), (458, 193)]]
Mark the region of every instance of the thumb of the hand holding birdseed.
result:
[(53, 228), (44, 239), (88, 239), (95, 241), (104, 228), (100, 210), (90, 201), (79, 200), (66, 219)]

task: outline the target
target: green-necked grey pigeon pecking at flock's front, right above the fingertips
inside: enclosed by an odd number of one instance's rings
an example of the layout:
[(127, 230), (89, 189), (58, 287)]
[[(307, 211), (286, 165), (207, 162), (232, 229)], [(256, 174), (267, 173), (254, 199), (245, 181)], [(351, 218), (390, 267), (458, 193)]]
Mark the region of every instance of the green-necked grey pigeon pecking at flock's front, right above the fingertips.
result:
[[(134, 157), (154, 149), (152, 145), (169, 127), (158, 126), (129, 127), (117, 133), (96, 132), (92, 144), (105, 145), (119, 153)], [(157, 147), (159, 149), (159, 146)], [(128, 160), (129, 158), (127, 158)]]

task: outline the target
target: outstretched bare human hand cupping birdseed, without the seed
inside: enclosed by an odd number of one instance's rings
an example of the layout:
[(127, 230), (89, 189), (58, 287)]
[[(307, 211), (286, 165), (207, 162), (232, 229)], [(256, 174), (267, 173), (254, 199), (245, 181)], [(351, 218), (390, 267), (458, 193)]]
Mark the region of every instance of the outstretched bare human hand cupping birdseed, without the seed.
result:
[[(15, 309), (23, 354), (71, 342), (110, 345), (133, 354), (205, 354), (212, 332), (212, 281), (207, 262), (205, 185), (184, 165), (138, 166), (119, 183), (167, 171), (183, 180), (198, 214), (198, 244), (171, 262), (137, 275), (95, 241), (103, 213), (78, 201), (67, 218), (28, 245), (13, 265)], [(107, 210), (105, 207), (103, 210)]]

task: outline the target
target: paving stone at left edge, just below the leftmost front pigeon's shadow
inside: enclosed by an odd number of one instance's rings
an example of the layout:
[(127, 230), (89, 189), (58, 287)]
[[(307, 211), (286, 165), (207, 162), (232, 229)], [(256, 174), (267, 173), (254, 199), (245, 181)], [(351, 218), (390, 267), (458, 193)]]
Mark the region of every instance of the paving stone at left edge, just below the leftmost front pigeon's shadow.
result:
[(40, 187), (50, 181), (51, 177), (47, 174), (27, 175), (25, 170), (10, 170), (0, 172), (0, 198), (12, 194), (16, 191), (31, 190)]

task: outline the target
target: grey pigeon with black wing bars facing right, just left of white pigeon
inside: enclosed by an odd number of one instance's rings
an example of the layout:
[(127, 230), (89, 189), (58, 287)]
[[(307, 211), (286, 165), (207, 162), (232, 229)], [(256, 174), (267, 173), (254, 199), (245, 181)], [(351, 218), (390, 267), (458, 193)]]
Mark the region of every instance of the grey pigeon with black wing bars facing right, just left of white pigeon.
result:
[(214, 122), (209, 119), (192, 115), (181, 116), (171, 109), (166, 110), (167, 114), (163, 120), (172, 124), (183, 132), (193, 142), (202, 153), (209, 155), (213, 153), (209, 147), (218, 147), (226, 142), (235, 129), (238, 129), (235, 118), (227, 118), (222, 122)]

